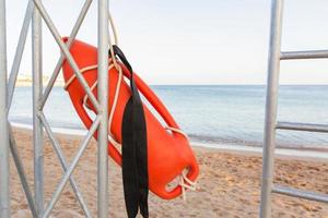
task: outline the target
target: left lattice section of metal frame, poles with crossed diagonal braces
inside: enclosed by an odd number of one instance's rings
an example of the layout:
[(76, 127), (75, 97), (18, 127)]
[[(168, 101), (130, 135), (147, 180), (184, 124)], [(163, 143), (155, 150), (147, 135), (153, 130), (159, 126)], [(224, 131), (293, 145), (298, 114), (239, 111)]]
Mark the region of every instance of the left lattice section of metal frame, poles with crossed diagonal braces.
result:
[[(49, 217), (66, 184), (70, 182), (77, 199), (84, 211), (85, 217), (91, 217), (91, 213), (85, 201), (74, 181), (72, 173), (85, 152), (93, 134), (98, 129), (98, 155), (97, 155), (97, 217), (108, 217), (108, 156), (107, 156), (107, 125), (108, 125), (108, 0), (98, 0), (98, 99), (94, 96), (86, 81), (81, 74), (78, 64), (72, 58), (69, 48), (75, 38), (81, 24), (89, 11), (92, 0), (85, 0), (72, 28), (71, 35), (67, 43), (63, 43), (59, 32), (54, 25), (50, 16), (44, 8), (40, 0), (30, 0), (26, 13), (19, 37), (19, 43), (11, 68), (10, 78), (7, 83), (7, 41), (5, 41), (5, 0), (0, 0), (0, 217), (10, 217), (10, 192), (9, 192), (9, 150), (12, 154), (16, 166), (24, 193), (27, 198), (33, 217)], [(33, 144), (34, 144), (34, 196), (30, 189), (26, 173), (22, 165), (15, 138), (12, 133), (11, 124), (8, 121), (9, 110), (12, 104), (16, 77), (22, 61), (22, 56), (28, 33), (28, 26), (32, 21), (32, 45), (33, 45)], [(42, 69), (42, 22), (45, 22), (58, 44), (61, 56), (56, 64), (51, 77), (43, 92), (43, 69)], [(67, 60), (96, 108), (97, 114), (83, 138), (77, 155), (71, 164), (68, 164), (56, 140), (54, 132), (43, 112), (44, 106), (54, 87), (56, 78), (61, 70), (63, 60)], [(63, 175), (58, 187), (52, 194), (46, 208), (44, 208), (44, 153), (43, 153), (43, 131), (47, 133), (51, 146), (57, 154), (63, 170)], [(3, 143), (2, 143), (3, 142)]]

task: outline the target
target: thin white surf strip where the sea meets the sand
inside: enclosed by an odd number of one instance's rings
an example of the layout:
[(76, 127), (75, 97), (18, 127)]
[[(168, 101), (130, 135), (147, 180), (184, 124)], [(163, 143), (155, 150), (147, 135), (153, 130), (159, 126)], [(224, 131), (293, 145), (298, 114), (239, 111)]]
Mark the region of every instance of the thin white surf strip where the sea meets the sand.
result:
[[(14, 129), (21, 130), (32, 130), (32, 125), (22, 124), (22, 123), (11, 123)], [(67, 135), (67, 136), (83, 136), (86, 134), (85, 130), (74, 130), (74, 129), (61, 129), (54, 128), (54, 133), (56, 135)], [(227, 153), (238, 153), (238, 154), (250, 154), (250, 155), (262, 155), (262, 147), (259, 146), (249, 146), (249, 145), (233, 145), (227, 143), (200, 143), (200, 142), (190, 142), (192, 147), (199, 148), (209, 148), (214, 150), (227, 152)], [(304, 148), (276, 148), (276, 155), (278, 157), (293, 158), (293, 159), (305, 159), (305, 160), (328, 160), (327, 150), (317, 150), (317, 149), (304, 149)]]

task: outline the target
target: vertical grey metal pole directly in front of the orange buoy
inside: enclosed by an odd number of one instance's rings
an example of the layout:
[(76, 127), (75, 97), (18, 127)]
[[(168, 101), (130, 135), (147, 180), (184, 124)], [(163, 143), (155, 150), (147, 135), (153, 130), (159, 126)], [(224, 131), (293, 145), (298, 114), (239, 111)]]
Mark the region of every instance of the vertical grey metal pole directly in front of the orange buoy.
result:
[(97, 206), (98, 217), (108, 217), (108, 0), (98, 0), (98, 129)]

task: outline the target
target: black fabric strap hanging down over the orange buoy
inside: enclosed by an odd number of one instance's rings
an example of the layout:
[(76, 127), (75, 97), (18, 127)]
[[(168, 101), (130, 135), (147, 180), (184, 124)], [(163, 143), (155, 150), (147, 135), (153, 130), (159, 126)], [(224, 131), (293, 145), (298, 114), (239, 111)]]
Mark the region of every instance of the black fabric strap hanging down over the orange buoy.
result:
[(147, 129), (142, 101), (134, 83), (132, 66), (117, 46), (114, 45), (113, 49), (131, 74), (131, 97), (126, 105), (121, 126), (122, 181), (127, 213), (129, 218), (134, 218), (140, 208), (141, 215), (148, 218)]

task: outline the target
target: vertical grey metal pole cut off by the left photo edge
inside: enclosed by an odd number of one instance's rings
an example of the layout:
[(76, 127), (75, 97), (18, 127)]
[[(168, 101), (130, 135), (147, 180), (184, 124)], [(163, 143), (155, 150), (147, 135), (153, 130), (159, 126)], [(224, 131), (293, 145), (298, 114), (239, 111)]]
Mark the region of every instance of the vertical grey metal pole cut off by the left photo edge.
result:
[(0, 217), (10, 217), (5, 0), (0, 0)]

